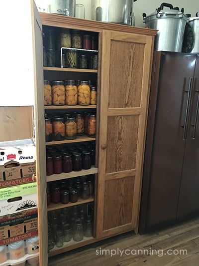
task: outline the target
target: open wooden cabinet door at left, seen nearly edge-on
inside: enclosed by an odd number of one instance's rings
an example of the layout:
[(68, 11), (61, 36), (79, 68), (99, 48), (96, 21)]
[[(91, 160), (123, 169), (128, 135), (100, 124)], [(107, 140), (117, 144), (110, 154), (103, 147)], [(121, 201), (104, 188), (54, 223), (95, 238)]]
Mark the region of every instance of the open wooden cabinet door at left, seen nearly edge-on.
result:
[(35, 71), (35, 143), (36, 143), (36, 177), (38, 200), (38, 228), (39, 228), (39, 262), (48, 265), (47, 240), (47, 197), (46, 197), (46, 162), (45, 162), (45, 127), (44, 127), (44, 96), (43, 96), (43, 51), (42, 51), (42, 23), (36, 5), (31, 0), (33, 17), (33, 54)]

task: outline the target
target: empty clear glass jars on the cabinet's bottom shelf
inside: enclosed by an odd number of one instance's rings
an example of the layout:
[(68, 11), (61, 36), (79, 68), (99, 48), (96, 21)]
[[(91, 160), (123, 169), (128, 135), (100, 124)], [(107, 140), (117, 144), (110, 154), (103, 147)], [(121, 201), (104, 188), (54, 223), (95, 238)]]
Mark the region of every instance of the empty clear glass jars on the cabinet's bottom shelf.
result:
[[(61, 248), (64, 242), (81, 241), (84, 237), (93, 236), (93, 216), (88, 215), (84, 208), (71, 209), (65, 214), (66, 208), (61, 213), (54, 211), (48, 217), (48, 250), (54, 246)], [(69, 208), (67, 208), (69, 209)]]

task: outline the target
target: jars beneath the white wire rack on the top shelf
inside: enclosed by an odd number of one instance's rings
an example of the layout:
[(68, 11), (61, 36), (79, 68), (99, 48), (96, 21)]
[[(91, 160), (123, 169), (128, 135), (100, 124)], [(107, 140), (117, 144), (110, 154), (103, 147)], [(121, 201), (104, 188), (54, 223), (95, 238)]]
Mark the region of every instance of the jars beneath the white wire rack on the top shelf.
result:
[(75, 50), (56, 51), (43, 47), (43, 66), (98, 69), (98, 55)]

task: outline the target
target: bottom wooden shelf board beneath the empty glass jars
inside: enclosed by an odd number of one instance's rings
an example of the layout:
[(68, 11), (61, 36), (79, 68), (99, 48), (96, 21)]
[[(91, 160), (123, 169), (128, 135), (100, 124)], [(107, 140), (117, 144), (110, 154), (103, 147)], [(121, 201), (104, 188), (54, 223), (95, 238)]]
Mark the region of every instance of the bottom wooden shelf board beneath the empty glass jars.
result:
[(83, 247), (83, 246), (86, 246), (86, 245), (89, 245), (89, 244), (92, 244), (95, 242), (96, 242), (96, 239), (93, 237), (91, 237), (91, 238), (84, 237), (84, 239), (82, 241), (78, 241), (78, 242), (71, 240), (70, 242), (65, 242), (64, 246), (61, 248), (57, 248), (55, 246), (52, 250), (50, 250), (48, 257), (52, 257), (55, 255), (61, 254), (63, 252), (77, 249), (77, 248), (80, 248), (80, 247)]

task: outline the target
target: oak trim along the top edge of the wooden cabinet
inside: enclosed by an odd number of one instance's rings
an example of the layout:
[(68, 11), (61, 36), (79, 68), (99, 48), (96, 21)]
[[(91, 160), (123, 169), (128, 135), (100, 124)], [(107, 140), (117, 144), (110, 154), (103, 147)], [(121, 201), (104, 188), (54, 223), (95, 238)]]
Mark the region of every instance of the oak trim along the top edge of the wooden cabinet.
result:
[(42, 24), (54, 27), (67, 27), (74, 29), (82, 29), (88, 31), (101, 32), (102, 30), (116, 30), (122, 32), (130, 32), (135, 34), (144, 35), (156, 35), (156, 29), (144, 28), (144, 27), (134, 27), (121, 25), (116, 23), (106, 23), (96, 20), (81, 19), (71, 16), (58, 15), (52, 13), (39, 12)]

